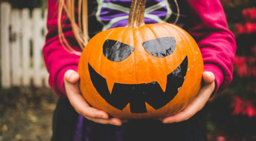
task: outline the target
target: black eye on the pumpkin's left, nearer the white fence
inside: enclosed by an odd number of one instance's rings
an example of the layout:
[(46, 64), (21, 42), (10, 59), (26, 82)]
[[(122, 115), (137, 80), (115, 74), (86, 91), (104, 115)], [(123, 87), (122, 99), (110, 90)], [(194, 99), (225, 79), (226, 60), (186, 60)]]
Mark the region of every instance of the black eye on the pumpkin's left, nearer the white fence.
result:
[(103, 44), (104, 56), (114, 62), (126, 59), (133, 51), (132, 46), (115, 40), (106, 40)]

